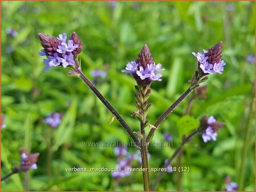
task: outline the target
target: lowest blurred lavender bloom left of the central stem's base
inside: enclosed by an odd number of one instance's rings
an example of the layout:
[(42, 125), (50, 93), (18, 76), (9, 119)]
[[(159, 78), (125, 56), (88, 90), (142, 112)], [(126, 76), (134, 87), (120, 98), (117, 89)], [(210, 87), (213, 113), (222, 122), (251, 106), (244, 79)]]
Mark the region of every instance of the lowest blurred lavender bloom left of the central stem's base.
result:
[(115, 166), (115, 168), (119, 168), (120, 171), (114, 171), (112, 173), (112, 177), (114, 178), (122, 178), (122, 177), (127, 177), (131, 174), (131, 171), (127, 169), (130, 169), (130, 162), (127, 161), (126, 159), (119, 159), (118, 164)]

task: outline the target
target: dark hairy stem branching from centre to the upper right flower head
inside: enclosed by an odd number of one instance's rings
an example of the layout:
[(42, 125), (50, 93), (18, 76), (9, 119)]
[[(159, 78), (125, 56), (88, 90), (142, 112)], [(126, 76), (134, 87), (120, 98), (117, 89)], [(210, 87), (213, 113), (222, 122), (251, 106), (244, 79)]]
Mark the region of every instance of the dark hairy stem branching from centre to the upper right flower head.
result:
[(193, 89), (192, 89), (192, 86), (189, 86), (189, 88), (179, 97), (179, 99), (177, 99), (177, 100), (175, 101), (175, 103), (172, 104), (172, 105), (170, 106), (170, 108), (168, 108), (168, 109), (166, 110), (166, 112), (164, 112), (164, 113), (158, 118), (158, 120), (157, 120), (157, 121), (155, 122), (155, 124), (154, 124), (154, 127), (152, 127), (152, 128), (150, 129), (150, 133), (148, 133), (148, 135), (147, 135), (147, 142), (149, 142), (149, 141), (151, 140), (152, 135), (154, 134), (155, 130), (156, 130), (157, 127), (160, 125), (160, 123), (163, 122), (163, 120), (172, 112), (172, 110), (174, 110), (174, 108), (175, 108), (177, 105), (179, 105), (179, 104), (181, 103), (181, 101), (183, 101), (183, 100), (185, 99), (185, 97), (187, 97), (188, 94), (189, 94), (192, 90), (193, 90)]

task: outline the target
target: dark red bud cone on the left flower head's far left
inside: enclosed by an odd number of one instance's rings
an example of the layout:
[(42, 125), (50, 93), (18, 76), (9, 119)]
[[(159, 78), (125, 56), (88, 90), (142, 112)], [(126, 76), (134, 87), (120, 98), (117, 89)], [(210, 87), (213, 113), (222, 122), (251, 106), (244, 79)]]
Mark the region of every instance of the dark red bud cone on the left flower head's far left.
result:
[(52, 37), (43, 33), (38, 34), (41, 45), (46, 52), (46, 56), (53, 56), (56, 53), (58, 46), (61, 44), (60, 40), (57, 40), (56, 37)]

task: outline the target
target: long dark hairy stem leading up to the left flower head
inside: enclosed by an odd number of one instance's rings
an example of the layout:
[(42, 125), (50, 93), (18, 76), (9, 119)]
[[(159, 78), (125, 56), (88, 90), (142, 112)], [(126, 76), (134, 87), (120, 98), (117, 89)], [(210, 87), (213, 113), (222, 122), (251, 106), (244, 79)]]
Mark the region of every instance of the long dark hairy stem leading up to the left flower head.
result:
[[(77, 60), (75, 60), (76, 63), (78, 63)], [(139, 145), (139, 140), (137, 139), (137, 137), (135, 136), (135, 134), (133, 133), (133, 131), (131, 130), (131, 128), (127, 125), (127, 123), (123, 120), (123, 118), (119, 115), (119, 113), (113, 108), (113, 106), (105, 99), (104, 96), (101, 95), (101, 93), (98, 91), (98, 89), (96, 87), (93, 86), (93, 84), (90, 82), (90, 80), (88, 78), (86, 78), (86, 76), (82, 73), (80, 68), (73, 68), (73, 70), (75, 72), (77, 72), (77, 74), (79, 74), (79, 77), (82, 79), (82, 81), (94, 92), (94, 94), (98, 97), (98, 99), (101, 100), (101, 102), (106, 106), (106, 108), (109, 109), (109, 111), (117, 118), (117, 120), (119, 121), (119, 123), (121, 123), (121, 125), (123, 126), (123, 128), (125, 128), (125, 130), (127, 131), (127, 133), (129, 133), (129, 135), (131, 136), (131, 138), (134, 140), (134, 142), (137, 144), (137, 146)]]

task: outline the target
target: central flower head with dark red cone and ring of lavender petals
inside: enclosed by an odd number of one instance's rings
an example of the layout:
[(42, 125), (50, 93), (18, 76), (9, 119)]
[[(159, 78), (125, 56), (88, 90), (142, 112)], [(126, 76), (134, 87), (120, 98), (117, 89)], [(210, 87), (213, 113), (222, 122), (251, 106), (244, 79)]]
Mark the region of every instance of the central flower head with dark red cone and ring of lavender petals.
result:
[(125, 70), (122, 70), (122, 72), (130, 73), (138, 84), (145, 86), (151, 84), (153, 80), (158, 80), (159, 82), (162, 80), (162, 74), (156, 74), (156, 72), (164, 70), (161, 67), (160, 63), (155, 65), (148, 46), (144, 45), (138, 54), (138, 58), (127, 63)]

